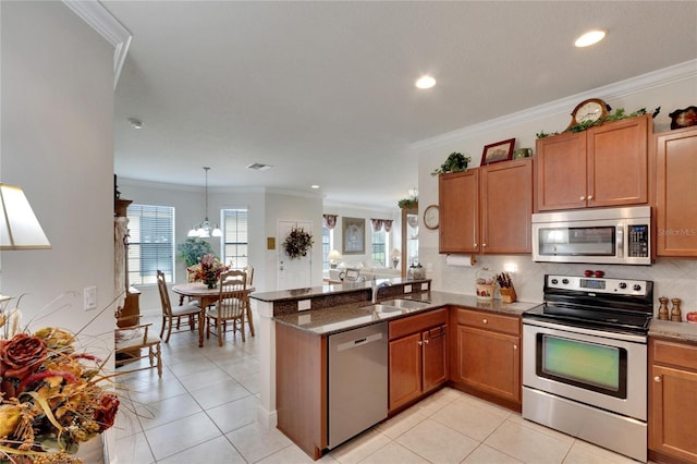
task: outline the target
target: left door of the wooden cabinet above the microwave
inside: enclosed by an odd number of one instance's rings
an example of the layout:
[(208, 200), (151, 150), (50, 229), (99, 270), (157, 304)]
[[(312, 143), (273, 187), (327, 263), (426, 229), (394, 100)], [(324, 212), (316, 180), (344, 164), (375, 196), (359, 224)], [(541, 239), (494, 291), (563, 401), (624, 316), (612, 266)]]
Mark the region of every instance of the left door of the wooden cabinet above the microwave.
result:
[(586, 207), (586, 134), (538, 138), (537, 207), (540, 211)]

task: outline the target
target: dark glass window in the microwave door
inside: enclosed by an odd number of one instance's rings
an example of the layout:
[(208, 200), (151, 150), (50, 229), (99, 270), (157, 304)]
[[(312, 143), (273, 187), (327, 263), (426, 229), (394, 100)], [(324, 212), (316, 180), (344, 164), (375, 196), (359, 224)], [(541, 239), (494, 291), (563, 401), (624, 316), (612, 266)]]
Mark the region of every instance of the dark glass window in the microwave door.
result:
[(540, 228), (539, 254), (542, 256), (615, 256), (616, 228)]

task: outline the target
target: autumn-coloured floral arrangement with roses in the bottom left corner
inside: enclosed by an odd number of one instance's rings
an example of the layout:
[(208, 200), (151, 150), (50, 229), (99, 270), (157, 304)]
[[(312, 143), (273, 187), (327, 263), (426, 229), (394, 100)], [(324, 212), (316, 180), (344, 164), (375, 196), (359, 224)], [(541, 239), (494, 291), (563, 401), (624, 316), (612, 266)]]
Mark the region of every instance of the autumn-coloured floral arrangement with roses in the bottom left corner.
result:
[[(13, 318), (3, 308), (4, 331)], [(0, 340), (0, 461), (82, 463), (68, 453), (113, 425), (119, 399), (100, 386), (103, 363), (74, 344), (57, 328)]]

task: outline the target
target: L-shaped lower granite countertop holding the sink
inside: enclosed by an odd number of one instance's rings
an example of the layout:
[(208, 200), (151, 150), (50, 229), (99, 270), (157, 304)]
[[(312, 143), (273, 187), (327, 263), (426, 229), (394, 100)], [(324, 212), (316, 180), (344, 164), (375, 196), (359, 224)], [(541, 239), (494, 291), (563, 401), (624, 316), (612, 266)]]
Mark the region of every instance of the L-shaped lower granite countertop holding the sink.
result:
[(403, 296), (404, 300), (428, 302), (420, 308), (404, 308), (401, 310), (391, 309), (382, 312), (380, 307), (374, 306), (369, 302), (360, 304), (347, 304), (331, 308), (307, 310), (291, 315), (276, 316), (273, 319), (280, 323), (294, 327), (299, 330), (316, 333), (318, 335), (329, 335), (344, 330), (356, 329), (369, 326), (382, 320), (393, 320), (414, 314), (428, 312), (445, 305), (463, 306), (467, 308), (480, 309), (492, 313), (519, 316), (527, 309), (537, 306), (539, 303), (502, 303), (500, 300), (482, 302), (473, 295), (461, 295), (457, 293), (430, 292), (418, 295)]

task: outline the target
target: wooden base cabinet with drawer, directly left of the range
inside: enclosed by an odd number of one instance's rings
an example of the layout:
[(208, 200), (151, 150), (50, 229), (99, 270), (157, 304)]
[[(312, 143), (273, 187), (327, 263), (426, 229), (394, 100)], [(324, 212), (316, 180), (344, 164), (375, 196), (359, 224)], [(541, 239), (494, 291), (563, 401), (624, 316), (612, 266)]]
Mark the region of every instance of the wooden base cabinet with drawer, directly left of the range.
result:
[(457, 308), (451, 327), (454, 387), (521, 412), (521, 318)]

